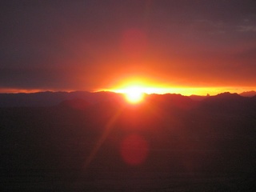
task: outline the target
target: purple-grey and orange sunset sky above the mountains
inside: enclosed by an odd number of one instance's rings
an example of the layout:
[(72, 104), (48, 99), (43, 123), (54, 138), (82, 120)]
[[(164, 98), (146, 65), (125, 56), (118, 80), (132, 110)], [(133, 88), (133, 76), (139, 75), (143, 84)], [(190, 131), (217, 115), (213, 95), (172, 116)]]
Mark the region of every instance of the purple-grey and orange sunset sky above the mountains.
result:
[(256, 89), (254, 0), (2, 0), (0, 41), (0, 92)]

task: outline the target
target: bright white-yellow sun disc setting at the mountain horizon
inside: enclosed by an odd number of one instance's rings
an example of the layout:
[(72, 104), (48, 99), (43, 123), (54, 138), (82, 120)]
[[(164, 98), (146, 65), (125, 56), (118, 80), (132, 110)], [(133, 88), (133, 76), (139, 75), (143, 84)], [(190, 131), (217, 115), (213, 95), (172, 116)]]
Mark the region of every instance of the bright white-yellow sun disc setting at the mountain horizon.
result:
[(144, 98), (144, 93), (143, 93), (142, 88), (137, 87), (137, 86), (132, 86), (132, 87), (126, 88), (126, 90), (124, 91), (124, 94), (126, 96), (127, 102), (130, 102), (133, 104), (142, 102), (142, 100)]

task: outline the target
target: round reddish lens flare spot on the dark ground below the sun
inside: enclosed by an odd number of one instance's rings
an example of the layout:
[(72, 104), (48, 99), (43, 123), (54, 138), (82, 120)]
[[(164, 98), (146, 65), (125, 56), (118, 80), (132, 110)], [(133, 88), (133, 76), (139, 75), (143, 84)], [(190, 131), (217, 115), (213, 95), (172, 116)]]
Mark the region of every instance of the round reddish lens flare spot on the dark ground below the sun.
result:
[(131, 134), (122, 141), (120, 152), (124, 162), (130, 166), (138, 166), (145, 162), (149, 146), (144, 138), (138, 134)]

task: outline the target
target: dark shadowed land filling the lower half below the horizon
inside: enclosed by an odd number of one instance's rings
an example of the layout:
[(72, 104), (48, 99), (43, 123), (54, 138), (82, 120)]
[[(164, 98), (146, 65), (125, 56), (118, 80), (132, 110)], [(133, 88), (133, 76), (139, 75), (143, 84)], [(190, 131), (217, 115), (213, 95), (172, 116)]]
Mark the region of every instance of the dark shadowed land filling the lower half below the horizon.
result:
[[(2, 191), (254, 191), (256, 98), (151, 95), (0, 108)], [(147, 147), (135, 165), (122, 143)], [(135, 157), (136, 158), (136, 157)]]

